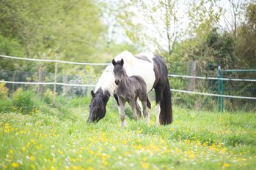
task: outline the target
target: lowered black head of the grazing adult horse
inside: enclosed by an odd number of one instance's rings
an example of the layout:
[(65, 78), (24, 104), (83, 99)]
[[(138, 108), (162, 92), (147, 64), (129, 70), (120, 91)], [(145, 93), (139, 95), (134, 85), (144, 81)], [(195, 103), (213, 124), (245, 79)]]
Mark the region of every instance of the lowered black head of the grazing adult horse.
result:
[(109, 93), (103, 93), (102, 90), (97, 90), (96, 93), (91, 91), (92, 100), (89, 104), (89, 117), (87, 122), (98, 122), (106, 115), (106, 104), (109, 101)]

